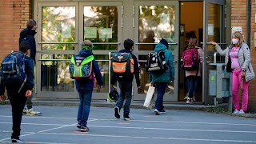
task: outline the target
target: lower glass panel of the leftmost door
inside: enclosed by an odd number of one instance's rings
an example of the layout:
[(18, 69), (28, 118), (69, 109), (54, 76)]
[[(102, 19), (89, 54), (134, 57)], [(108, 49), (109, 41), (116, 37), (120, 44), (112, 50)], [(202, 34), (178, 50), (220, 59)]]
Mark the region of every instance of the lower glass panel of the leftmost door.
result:
[[(42, 54), (42, 59), (70, 59), (70, 54)], [(42, 61), (41, 90), (74, 92), (74, 80), (70, 78), (70, 61)]]

